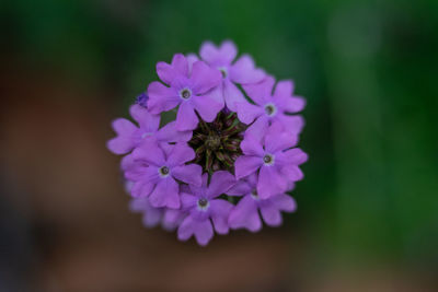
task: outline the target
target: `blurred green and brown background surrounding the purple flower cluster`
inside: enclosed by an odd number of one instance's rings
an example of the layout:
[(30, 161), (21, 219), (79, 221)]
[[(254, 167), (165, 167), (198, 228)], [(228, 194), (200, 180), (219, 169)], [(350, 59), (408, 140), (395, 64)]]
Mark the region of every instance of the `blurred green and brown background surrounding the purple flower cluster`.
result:
[[(438, 1), (1, 1), (0, 291), (438, 291)], [(127, 209), (110, 122), (233, 39), (307, 97), (279, 229), (207, 248)]]

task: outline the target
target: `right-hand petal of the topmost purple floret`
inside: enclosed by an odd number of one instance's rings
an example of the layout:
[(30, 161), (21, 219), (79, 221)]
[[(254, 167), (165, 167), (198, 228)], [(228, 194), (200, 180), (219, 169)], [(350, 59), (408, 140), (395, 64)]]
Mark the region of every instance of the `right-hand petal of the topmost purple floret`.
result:
[(265, 71), (262, 69), (256, 69), (253, 58), (251, 58), (249, 55), (243, 55), (240, 57), (230, 68), (230, 79), (237, 83), (257, 83), (265, 77)]

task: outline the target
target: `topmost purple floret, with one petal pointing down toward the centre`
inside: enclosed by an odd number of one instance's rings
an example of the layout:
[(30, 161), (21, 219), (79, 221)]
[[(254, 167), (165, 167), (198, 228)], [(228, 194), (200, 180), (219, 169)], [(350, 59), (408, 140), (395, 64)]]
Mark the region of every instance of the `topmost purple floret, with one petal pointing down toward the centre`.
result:
[(243, 55), (233, 62), (238, 49), (230, 40), (223, 42), (220, 47), (216, 47), (211, 42), (206, 42), (201, 45), (199, 55), (209, 66), (221, 71), (222, 94), (227, 107), (233, 112), (237, 109), (235, 103), (245, 102), (245, 97), (235, 83), (257, 83), (265, 78), (265, 72), (255, 68), (254, 61), (249, 55)]

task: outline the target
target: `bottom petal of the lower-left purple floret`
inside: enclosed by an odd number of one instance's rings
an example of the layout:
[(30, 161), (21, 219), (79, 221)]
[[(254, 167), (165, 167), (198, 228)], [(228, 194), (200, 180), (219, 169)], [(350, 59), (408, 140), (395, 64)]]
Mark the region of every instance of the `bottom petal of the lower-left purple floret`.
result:
[(150, 203), (155, 207), (178, 209), (181, 206), (178, 185), (172, 177), (161, 178), (149, 196)]

